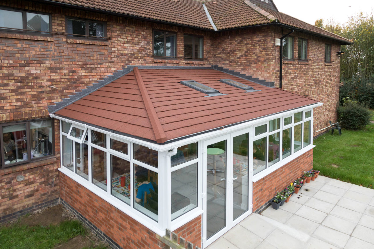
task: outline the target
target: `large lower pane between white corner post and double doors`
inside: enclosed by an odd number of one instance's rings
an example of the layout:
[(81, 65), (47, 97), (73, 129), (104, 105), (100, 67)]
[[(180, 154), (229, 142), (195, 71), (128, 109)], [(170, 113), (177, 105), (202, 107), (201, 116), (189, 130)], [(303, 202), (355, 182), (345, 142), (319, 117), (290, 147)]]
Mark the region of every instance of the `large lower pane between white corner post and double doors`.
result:
[(197, 206), (197, 163), (171, 172), (171, 219)]

